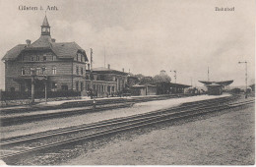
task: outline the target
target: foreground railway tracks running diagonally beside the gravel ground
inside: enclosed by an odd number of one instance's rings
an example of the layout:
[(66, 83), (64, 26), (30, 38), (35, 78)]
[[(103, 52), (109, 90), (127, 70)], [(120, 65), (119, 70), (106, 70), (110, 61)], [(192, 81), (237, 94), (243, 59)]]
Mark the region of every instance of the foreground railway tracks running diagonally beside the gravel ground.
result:
[[(184, 104), (178, 107), (174, 107), (172, 109), (165, 109), (125, 118), (112, 119), (99, 123), (94, 123), (91, 125), (83, 125), (79, 127), (57, 130), (50, 133), (37, 134), (24, 138), (5, 139), (1, 142), (2, 149), (11, 149), (14, 151), (17, 147), (27, 147), (27, 149), (16, 150), (15, 152), (9, 154), (2, 154), (1, 159), (8, 160), (9, 158), (17, 158), (18, 156), (24, 155), (26, 153), (32, 153), (33, 151), (40, 151), (42, 149), (69, 144), (80, 140), (94, 139), (105, 135), (140, 128), (143, 126), (149, 126), (165, 121), (193, 117), (201, 114), (206, 114), (209, 112), (220, 111), (254, 102), (254, 100), (248, 100), (243, 102), (230, 102), (231, 99), (233, 99), (233, 97), (221, 98), (218, 100), (215, 99), (212, 101), (204, 100), (197, 103)], [(47, 141), (49, 138), (52, 137), (59, 138), (59, 136), (61, 135), (66, 136), (77, 132), (77, 135), (73, 135), (72, 137), (69, 137), (69, 139), (59, 139), (51, 143), (46, 142), (43, 145), (32, 144), (32, 140), (35, 140), (34, 143), (36, 143), (36, 140), (37, 142), (41, 143), (41, 140), (38, 139), (46, 139)]]

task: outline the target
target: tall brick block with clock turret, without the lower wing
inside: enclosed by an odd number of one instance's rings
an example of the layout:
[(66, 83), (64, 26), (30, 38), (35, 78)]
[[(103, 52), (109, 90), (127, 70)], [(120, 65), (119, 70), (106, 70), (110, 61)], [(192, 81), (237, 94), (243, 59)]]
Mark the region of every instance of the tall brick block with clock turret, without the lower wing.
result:
[(35, 91), (75, 90), (86, 87), (86, 51), (76, 42), (56, 42), (50, 35), (45, 16), (40, 37), (27, 44), (18, 44), (3, 57), (5, 63), (5, 89), (31, 91), (32, 72), (35, 71)]

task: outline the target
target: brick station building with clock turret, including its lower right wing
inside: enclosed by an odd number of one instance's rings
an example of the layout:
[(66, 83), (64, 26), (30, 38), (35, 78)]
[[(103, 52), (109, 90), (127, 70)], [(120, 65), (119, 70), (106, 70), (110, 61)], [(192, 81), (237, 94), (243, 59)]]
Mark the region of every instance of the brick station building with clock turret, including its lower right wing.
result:
[[(9, 50), (5, 63), (5, 90), (42, 93), (45, 91), (81, 92), (92, 89), (97, 97), (117, 94), (127, 84), (128, 73), (107, 68), (90, 69), (86, 51), (76, 42), (56, 42), (51, 37), (46, 16), (41, 34), (32, 42), (18, 44)], [(32, 82), (33, 79), (33, 82)], [(65, 95), (65, 94), (64, 94)]]

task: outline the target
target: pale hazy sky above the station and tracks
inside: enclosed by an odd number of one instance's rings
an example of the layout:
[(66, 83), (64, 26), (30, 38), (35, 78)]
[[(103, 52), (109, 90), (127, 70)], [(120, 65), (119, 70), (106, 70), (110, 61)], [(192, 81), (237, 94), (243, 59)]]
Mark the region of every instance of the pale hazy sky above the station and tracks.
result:
[[(255, 1), (253, 0), (0, 0), (0, 58), (26, 39), (35, 41), (45, 10), (19, 6), (56, 6), (46, 11), (56, 42), (77, 42), (94, 67), (155, 76), (165, 70), (174, 82), (202, 85), (200, 80), (248, 83), (255, 76)], [(233, 8), (234, 11), (216, 11)], [(170, 72), (172, 71), (172, 72)], [(0, 62), (0, 88), (4, 63)]]

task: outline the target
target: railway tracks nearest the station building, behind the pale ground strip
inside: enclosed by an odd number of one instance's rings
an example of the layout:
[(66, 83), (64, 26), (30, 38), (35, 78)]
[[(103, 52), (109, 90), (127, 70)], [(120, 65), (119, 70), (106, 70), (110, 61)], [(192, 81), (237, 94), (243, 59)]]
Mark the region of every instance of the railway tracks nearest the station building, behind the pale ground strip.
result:
[[(135, 103), (138, 102), (146, 102), (146, 101), (153, 101), (153, 100), (164, 100), (169, 98), (179, 98), (187, 96), (186, 94), (174, 94), (174, 95), (167, 95), (167, 96), (154, 96), (154, 97), (147, 97), (147, 98), (121, 98), (121, 99), (104, 99), (96, 101), (96, 108), (94, 108), (94, 101), (78, 101), (78, 102), (71, 102), (72, 106), (76, 106), (76, 108), (70, 108), (69, 102), (67, 104), (63, 104), (56, 108), (56, 106), (53, 106), (53, 108), (48, 108), (48, 111), (45, 111), (43, 108), (40, 111), (37, 111), (35, 109), (38, 108), (32, 108), (29, 112), (27, 110), (21, 110), (19, 111), (9, 111), (9, 110), (3, 110), (1, 111), (0, 116), (0, 122), (1, 126), (11, 126), (11, 125), (17, 125), (17, 124), (23, 124), (28, 123), (32, 121), (41, 121), (45, 119), (52, 119), (52, 118), (60, 118), (60, 117), (66, 117), (71, 115), (79, 115), (79, 114), (85, 114), (88, 112), (96, 112), (96, 111), (103, 111), (103, 110), (109, 110), (109, 109), (116, 109), (116, 108), (124, 108), (124, 107), (130, 107)], [(26, 112), (26, 113), (25, 113)]]

